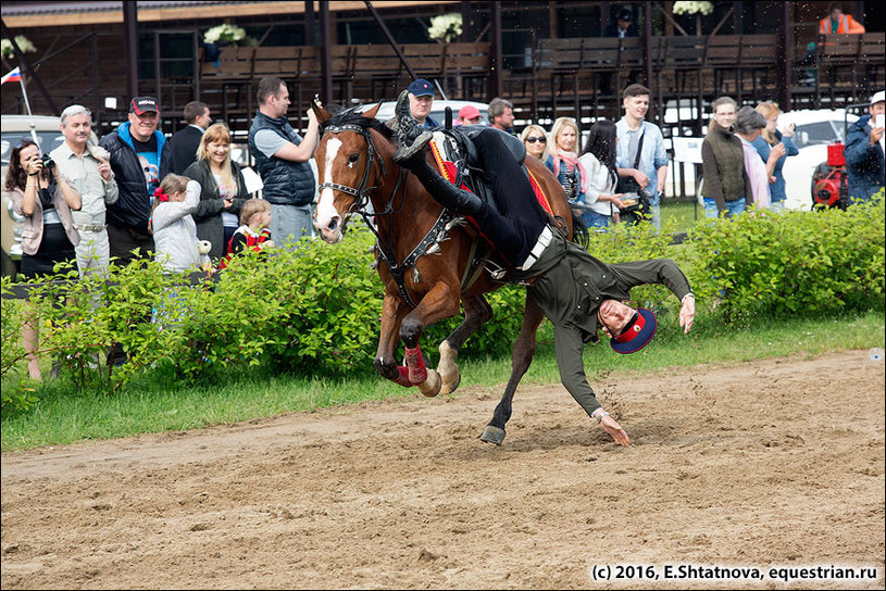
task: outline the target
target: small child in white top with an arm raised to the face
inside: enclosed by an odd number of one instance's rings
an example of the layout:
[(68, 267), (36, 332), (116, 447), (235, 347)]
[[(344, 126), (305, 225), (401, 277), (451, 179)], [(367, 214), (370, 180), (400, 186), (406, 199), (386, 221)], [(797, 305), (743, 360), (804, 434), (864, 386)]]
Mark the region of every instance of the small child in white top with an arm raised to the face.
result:
[(204, 263), (197, 246), (191, 213), (200, 202), (200, 184), (169, 174), (154, 190), (148, 229), (154, 236), (157, 260), (167, 272), (197, 271)]

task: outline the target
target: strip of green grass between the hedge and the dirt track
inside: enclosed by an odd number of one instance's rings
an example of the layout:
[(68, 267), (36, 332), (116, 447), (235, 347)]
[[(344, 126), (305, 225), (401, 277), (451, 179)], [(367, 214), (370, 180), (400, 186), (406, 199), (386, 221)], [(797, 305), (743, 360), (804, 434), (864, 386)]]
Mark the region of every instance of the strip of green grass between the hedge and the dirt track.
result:
[[(588, 345), (585, 369), (594, 386), (597, 376), (613, 369), (648, 372), (795, 353), (816, 355), (834, 350), (882, 348), (885, 318), (884, 312), (878, 311), (852, 317), (790, 322), (757, 318), (739, 326), (706, 322), (701, 317), (689, 335), (662, 330), (652, 345), (635, 355), (619, 355), (603, 342)], [(663, 317), (660, 323), (676, 319)], [(429, 343), (426, 349), (433, 351)], [(432, 360), (436, 363), (436, 355)], [(510, 360), (475, 356), (461, 360), (460, 367), (463, 387), (483, 386), (500, 393), (510, 374)], [(546, 323), (523, 383), (548, 385), (559, 380), (550, 325)], [(2, 451), (197, 429), (288, 412), (415, 395), (416, 390), (395, 386), (372, 373), (332, 380), (255, 369), (221, 374), (211, 383), (199, 386), (163, 376), (143, 376), (114, 397), (79, 392), (65, 380), (48, 380), (40, 386), (39, 394), (40, 401), (33, 408), (3, 416)], [(490, 405), (489, 417), (491, 412)]]

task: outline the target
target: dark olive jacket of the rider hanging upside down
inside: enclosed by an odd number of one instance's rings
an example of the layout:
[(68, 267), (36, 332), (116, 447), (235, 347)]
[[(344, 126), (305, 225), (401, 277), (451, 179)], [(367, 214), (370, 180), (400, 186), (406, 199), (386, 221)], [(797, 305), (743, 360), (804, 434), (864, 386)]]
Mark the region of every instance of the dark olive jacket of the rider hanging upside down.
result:
[[(537, 275), (526, 293), (553, 324), (560, 380), (590, 415), (600, 403), (585, 377), (582, 351), (597, 342), (597, 311), (606, 300), (629, 299), (631, 289), (646, 284), (666, 286), (678, 300), (691, 292), (689, 281), (670, 259), (608, 265), (553, 231), (551, 244), (526, 273)], [(521, 277), (514, 272), (513, 277)]]

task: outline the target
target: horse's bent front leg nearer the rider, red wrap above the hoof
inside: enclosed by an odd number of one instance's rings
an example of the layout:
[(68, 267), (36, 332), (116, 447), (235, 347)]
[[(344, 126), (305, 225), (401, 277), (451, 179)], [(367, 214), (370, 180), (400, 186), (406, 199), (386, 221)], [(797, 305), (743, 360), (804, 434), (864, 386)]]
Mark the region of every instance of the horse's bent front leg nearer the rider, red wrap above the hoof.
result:
[(400, 338), (405, 345), (409, 379), (426, 397), (436, 397), (440, 393), (440, 375), (425, 367), (419, 341), (425, 326), (454, 316), (458, 312), (458, 288), (453, 290), (449, 285), (438, 282), (425, 293), (415, 310), (407, 314), (400, 324)]

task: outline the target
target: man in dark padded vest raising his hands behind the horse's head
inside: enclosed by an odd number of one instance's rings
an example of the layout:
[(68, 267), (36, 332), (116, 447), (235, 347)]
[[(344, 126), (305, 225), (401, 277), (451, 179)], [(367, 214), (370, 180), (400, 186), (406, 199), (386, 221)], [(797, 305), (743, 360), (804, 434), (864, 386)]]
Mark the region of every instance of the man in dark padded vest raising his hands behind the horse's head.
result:
[(271, 203), (271, 237), (277, 246), (311, 235), (316, 181), (308, 162), (316, 149), (316, 115), (308, 109), (308, 131), (299, 136), (286, 118), (289, 89), (279, 78), (259, 81), (259, 111), (249, 129), (249, 150)]

